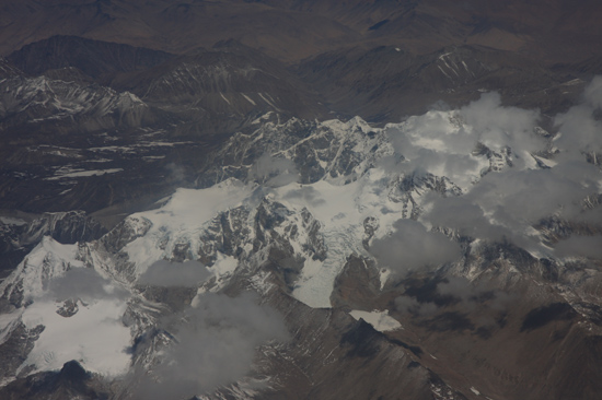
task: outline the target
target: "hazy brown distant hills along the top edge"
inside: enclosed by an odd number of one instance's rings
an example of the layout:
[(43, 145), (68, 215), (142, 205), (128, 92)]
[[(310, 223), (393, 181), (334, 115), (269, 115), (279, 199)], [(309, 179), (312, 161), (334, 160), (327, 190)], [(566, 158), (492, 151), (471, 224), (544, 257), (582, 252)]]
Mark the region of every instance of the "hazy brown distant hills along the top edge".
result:
[(364, 44), (418, 54), (482, 45), (564, 62), (597, 51), (600, 11), (594, 0), (578, 7), (566, 0), (26, 1), (2, 4), (0, 54), (76, 35), (177, 54), (234, 38), (289, 62)]

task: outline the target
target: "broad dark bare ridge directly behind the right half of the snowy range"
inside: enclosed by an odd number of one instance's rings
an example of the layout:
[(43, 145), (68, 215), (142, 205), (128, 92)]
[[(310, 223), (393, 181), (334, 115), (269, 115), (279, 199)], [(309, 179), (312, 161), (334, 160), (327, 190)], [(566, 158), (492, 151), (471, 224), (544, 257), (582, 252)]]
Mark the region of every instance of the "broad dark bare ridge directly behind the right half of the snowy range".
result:
[[(428, 55), (395, 45), (349, 48), (304, 60), (299, 73), (327, 87), (325, 96), (339, 113), (354, 116), (361, 109), (367, 120), (379, 122), (398, 120), (403, 113), (422, 114), (437, 102), (455, 107), (478, 98), (479, 91), (499, 91), (505, 102), (556, 114), (580, 90), (564, 85), (569, 81), (564, 73), (535, 67), (522, 55), (479, 46), (450, 46)], [(558, 92), (554, 99), (545, 92), (552, 87)]]

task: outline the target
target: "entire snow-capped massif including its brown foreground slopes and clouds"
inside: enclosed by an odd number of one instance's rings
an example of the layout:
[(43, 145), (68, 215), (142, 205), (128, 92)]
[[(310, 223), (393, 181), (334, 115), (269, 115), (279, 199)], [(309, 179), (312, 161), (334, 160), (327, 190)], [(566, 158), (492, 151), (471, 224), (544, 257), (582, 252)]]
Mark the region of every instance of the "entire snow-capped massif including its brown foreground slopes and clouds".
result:
[[(0, 285), (2, 390), (83, 368), (78, 393), (116, 398), (589, 392), (523, 375), (570, 376), (600, 334), (602, 179), (563, 142), (572, 111), (553, 133), (495, 94), (383, 128), (266, 114), (198, 188), (97, 239), (39, 242)], [(563, 353), (500, 351), (521, 336)]]

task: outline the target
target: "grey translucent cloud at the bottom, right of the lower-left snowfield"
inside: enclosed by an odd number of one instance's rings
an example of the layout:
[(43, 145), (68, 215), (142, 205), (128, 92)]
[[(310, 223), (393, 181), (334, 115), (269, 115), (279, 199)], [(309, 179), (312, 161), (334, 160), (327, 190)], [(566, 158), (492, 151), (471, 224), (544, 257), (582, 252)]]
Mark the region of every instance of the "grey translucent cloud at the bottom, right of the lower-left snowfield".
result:
[(288, 339), (282, 316), (258, 305), (253, 294), (205, 294), (198, 299), (197, 307), (177, 316), (175, 341), (153, 370), (158, 381), (142, 379), (140, 397), (187, 399), (228, 385), (250, 372), (258, 345)]

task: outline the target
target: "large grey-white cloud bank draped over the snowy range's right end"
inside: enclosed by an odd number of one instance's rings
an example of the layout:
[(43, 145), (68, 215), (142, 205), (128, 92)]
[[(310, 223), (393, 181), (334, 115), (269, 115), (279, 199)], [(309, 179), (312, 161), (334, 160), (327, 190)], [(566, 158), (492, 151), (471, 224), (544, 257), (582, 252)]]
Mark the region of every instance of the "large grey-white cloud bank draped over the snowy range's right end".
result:
[[(503, 107), (495, 93), (456, 111), (409, 118), (390, 132), (405, 157), (401, 170), (447, 176), (464, 189), (461, 197), (427, 196), (420, 221), (530, 248), (540, 246), (532, 226), (544, 217), (600, 223), (600, 211), (587, 212), (582, 202), (602, 192), (602, 174), (592, 163), (602, 154), (601, 105), (602, 77), (597, 77), (582, 103), (554, 119), (559, 133), (552, 143), (535, 132), (537, 110)], [(471, 154), (476, 143), (498, 152), (510, 149), (511, 166), (484, 174), (479, 160), (486, 158)], [(549, 167), (540, 168), (532, 153), (551, 145), (556, 150)], [(564, 243), (559, 254), (578, 242)]]

